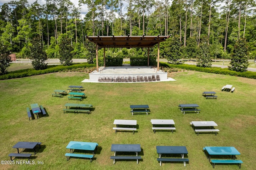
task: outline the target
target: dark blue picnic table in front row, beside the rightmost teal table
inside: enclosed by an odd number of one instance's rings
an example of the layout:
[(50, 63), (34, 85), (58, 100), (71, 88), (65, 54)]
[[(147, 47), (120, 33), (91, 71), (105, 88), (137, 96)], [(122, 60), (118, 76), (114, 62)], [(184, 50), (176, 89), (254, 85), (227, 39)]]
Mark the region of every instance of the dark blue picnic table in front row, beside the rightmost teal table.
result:
[[(162, 165), (162, 161), (183, 162), (184, 166), (189, 161), (184, 158), (184, 154), (188, 154), (186, 146), (156, 146), (156, 152), (159, 155), (157, 160), (160, 161), (160, 166)], [(180, 154), (182, 158), (161, 158), (162, 154)]]

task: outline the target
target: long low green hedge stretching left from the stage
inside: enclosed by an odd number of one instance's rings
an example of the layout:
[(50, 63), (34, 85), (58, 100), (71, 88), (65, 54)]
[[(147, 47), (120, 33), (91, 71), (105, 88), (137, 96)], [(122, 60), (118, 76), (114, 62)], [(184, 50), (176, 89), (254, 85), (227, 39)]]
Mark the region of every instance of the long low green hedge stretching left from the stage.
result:
[(44, 70), (35, 70), (35, 69), (25, 69), (25, 70), (19, 70), (19, 71), (12, 71), (8, 72), (5, 75), (1, 75), (0, 79), (14, 79), (14, 78), (20, 78), (20, 77), (28, 77), (32, 75), (40, 75), (40, 74), (46, 74), (46, 73), (55, 73), (60, 71), (68, 71), (68, 70), (75, 70), (78, 68), (86, 68), (86, 67), (95, 67), (94, 64), (73, 64), (69, 66), (63, 66), (63, 65), (56, 65), (54, 67), (48, 66), (47, 69)]

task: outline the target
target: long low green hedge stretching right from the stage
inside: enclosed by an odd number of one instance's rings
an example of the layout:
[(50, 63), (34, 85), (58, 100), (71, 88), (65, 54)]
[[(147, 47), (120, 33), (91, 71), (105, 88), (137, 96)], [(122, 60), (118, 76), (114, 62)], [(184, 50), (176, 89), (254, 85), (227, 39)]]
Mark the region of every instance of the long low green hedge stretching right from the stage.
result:
[(246, 77), (249, 79), (256, 79), (256, 72), (253, 72), (253, 71), (236, 72), (236, 71), (231, 71), (228, 68), (224, 68), (224, 69), (220, 67), (204, 68), (204, 67), (197, 67), (196, 65), (188, 65), (188, 64), (174, 65), (174, 64), (168, 64), (168, 63), (162, 63), (162, 62), (160, 62), (160, 65), (162, 67), (174, 67), (174, 68), (194, 70), (194, 71), (200, 71), (200, 72), (206, 72), (206, 73), (233, 75), (238, 77)]

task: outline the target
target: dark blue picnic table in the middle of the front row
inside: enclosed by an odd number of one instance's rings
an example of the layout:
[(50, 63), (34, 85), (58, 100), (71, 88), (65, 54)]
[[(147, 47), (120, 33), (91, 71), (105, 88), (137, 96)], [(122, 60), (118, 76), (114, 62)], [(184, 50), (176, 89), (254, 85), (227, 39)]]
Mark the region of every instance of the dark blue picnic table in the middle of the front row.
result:
[[(129, 160), (138, 160), (141, 159), (141, 156), (138, 156), (138, 152), (141, 151), (140, 144), (112, 144), (111, 151), (114, 152), (114, 156), (110, 156), (110, 159), (129, 159)], [(136, 156), (116, 156), (116, 152), (135, 152)]]

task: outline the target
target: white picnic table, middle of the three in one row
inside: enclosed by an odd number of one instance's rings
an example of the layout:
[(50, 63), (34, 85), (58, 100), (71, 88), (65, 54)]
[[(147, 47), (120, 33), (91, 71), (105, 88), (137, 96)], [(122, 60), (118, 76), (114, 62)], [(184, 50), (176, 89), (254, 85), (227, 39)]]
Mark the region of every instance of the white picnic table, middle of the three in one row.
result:
[[(154, 133), (156, 132), (156, 130), (172, 130), (173, 132), (173, 130), (176, 129), (175, 127), (173, 127), (174, 121), (172, 119), (151, 119), (150, 122), (153, 125), (152, 130), (154, 130)], [(163, 125), (165, 125), (165, 127), (163, 127)]]

